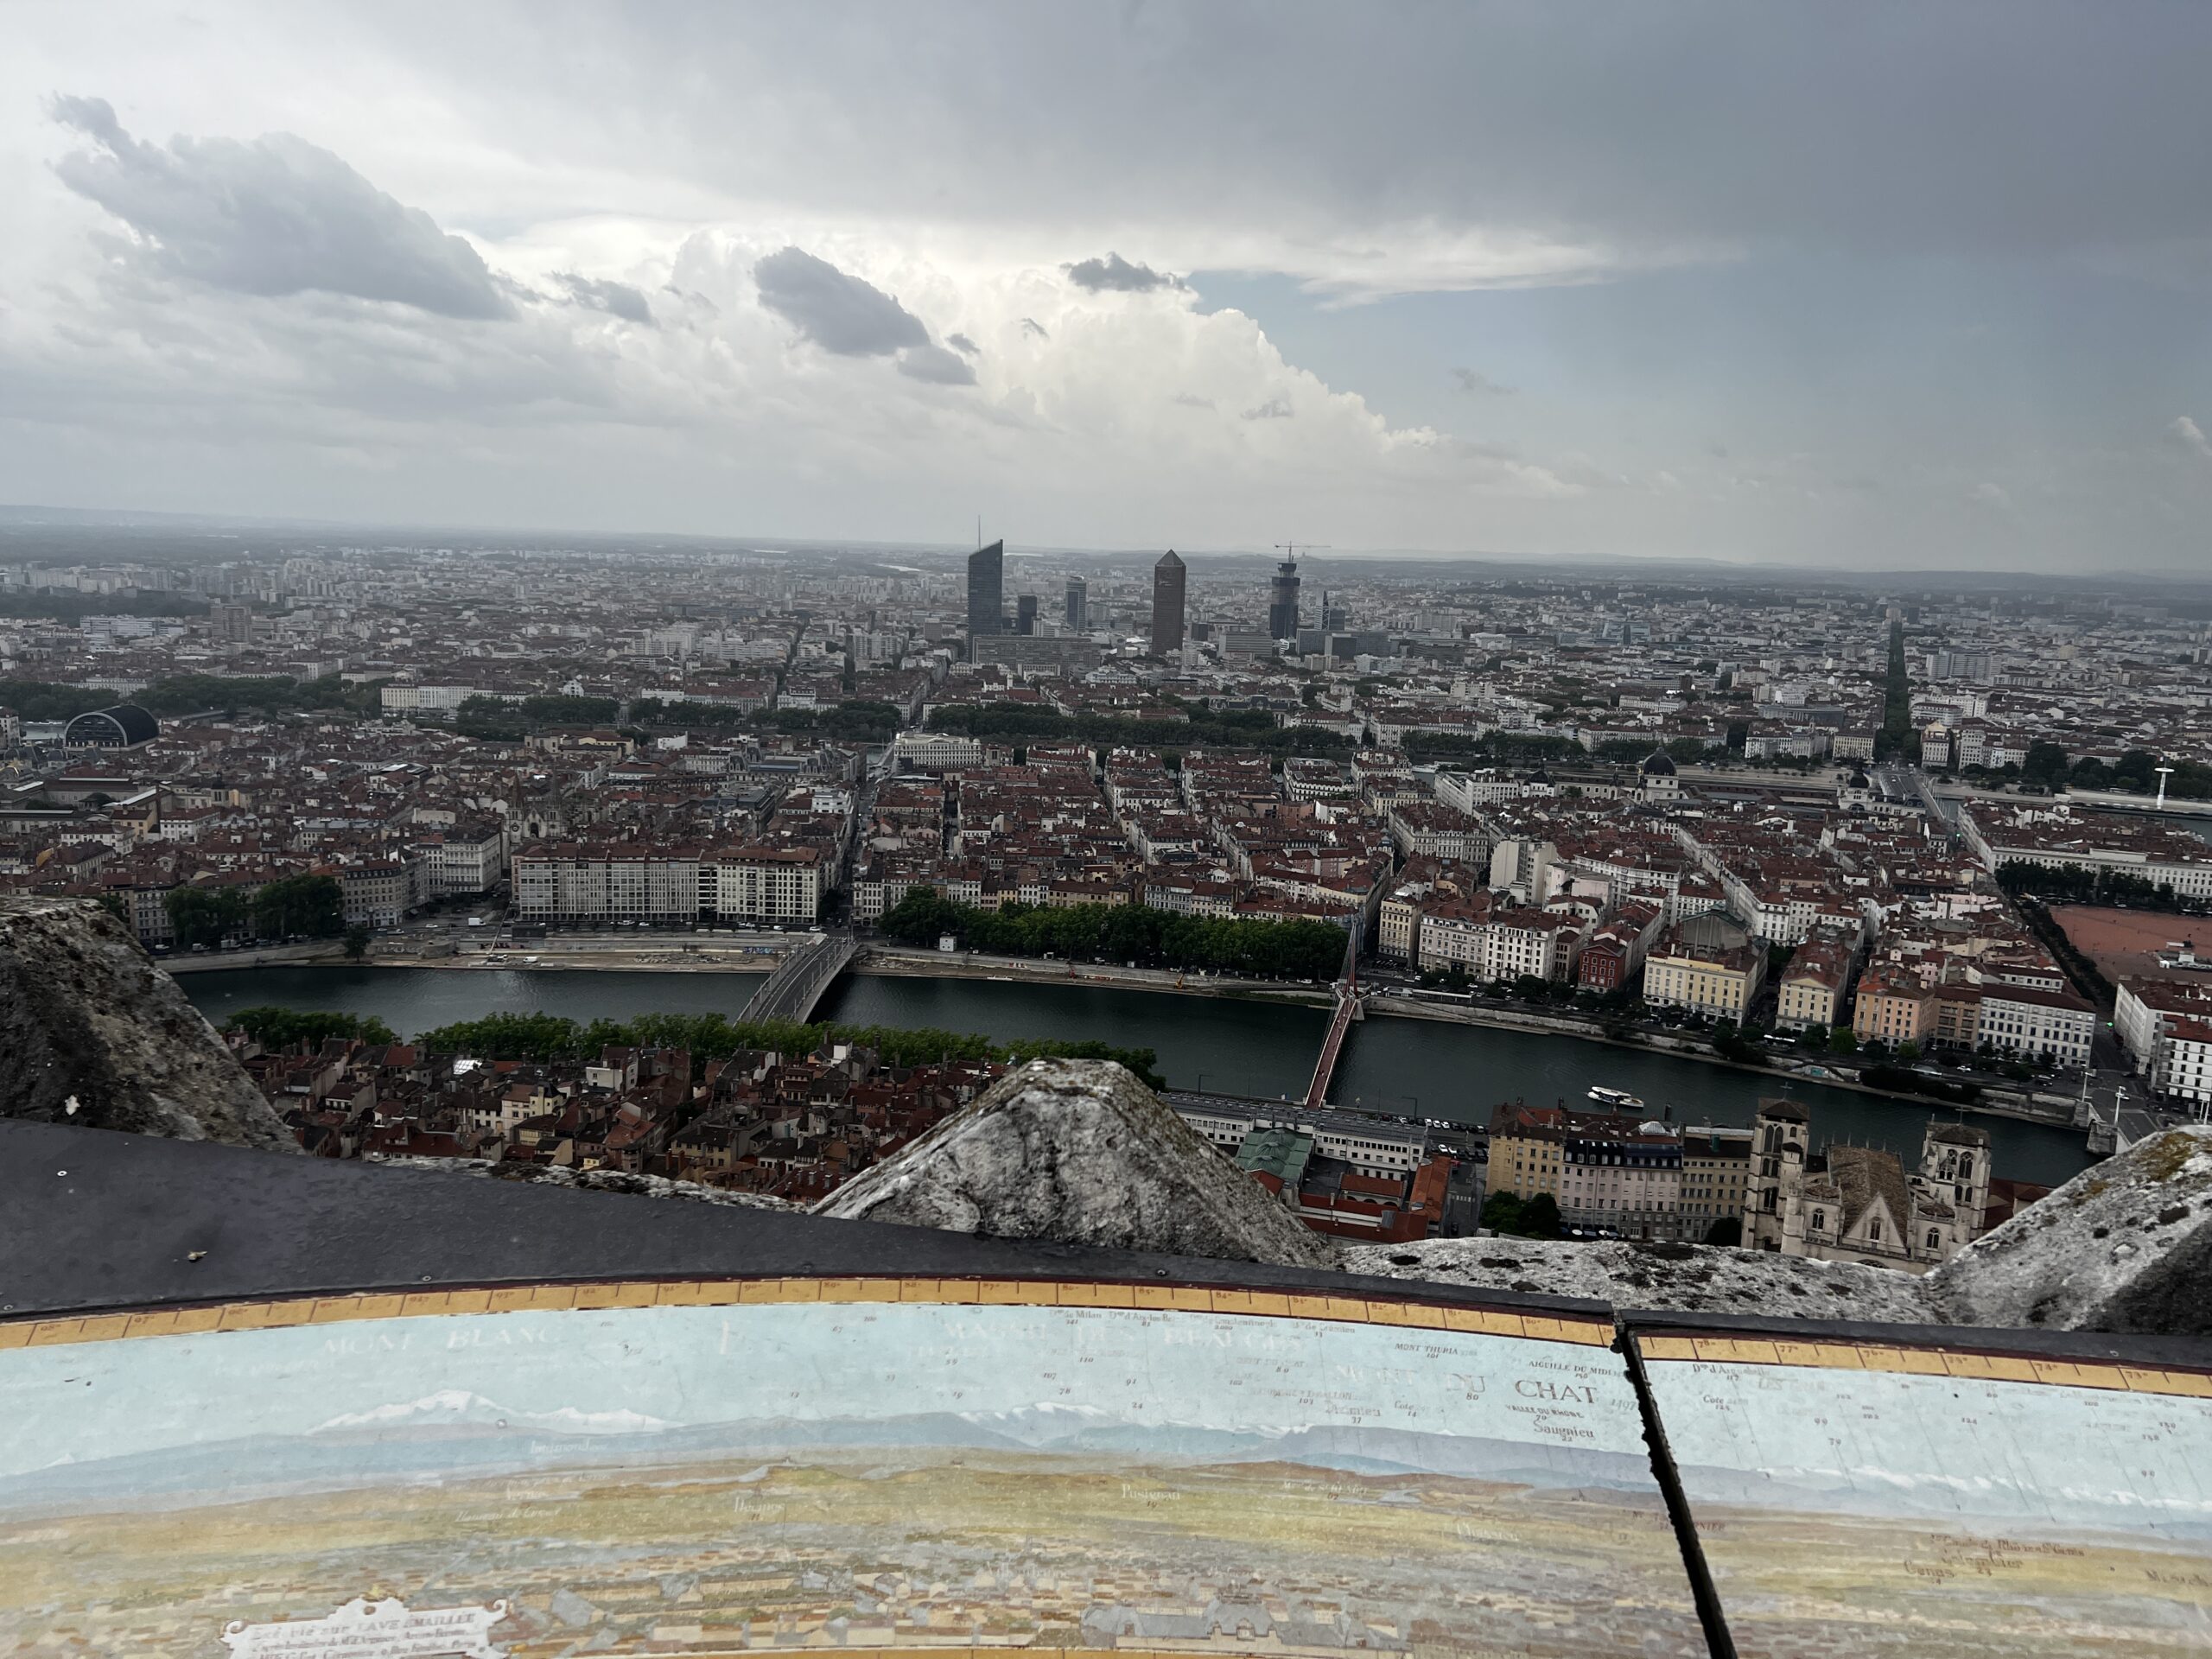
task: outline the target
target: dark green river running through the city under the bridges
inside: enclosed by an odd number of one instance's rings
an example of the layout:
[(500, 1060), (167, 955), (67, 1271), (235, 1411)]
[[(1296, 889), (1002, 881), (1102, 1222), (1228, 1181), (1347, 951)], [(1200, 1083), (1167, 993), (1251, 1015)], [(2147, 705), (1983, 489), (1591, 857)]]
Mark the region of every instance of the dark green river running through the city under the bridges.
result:
[[(759, 973), (484, 971), (484, 969), (237, 969), (188, 973), (179, 984), (210, 1018), (274, 1002), (288, 1009), (374, 1013), (405, 1037), (484, 1013), (557, 1013), (626, 1020), (637, 1013), (728, 1013), (745, 1006)], [(847, 975), (830, 989), (818, 1020), (942, 1026), (1011, 1037), (1095, 1037), (1159, 1053), (1159, 1071), (1181, 1088), (1230, 1095), (1305, 1095), (1327, 1029), (1323, 1009), (1183, 998), (1113, 987), (1020, 980)], [(1329, 1097), (1396, 1117), (1486, 1124), (1498, 1102), (1568, 1104), (1595, 1110), (1590, 1084), (1641, 1095), (1648, 1117), (1677, 1124), (1752, 1121), (1781, 1077), (1710, 1066), (1679, 1055), (1498, 1031), (1436, 1020), (1371, 1018), (1352, 1029)], [(1847, 1088), (1792, 1084), (1812, 1113), (1814, 1141), (1887, 1146), (1913, 1161), (1929, 1108)], [(2059, 1183), (2088, 1166), (2081, 1135), (1969, 1117), (1989, 1130), (1997, 1175)]]

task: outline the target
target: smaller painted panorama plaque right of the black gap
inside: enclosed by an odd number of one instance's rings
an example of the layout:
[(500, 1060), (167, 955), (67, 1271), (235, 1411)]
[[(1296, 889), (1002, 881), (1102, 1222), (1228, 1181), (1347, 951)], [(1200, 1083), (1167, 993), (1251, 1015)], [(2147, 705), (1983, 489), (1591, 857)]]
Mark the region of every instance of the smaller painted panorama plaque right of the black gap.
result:
[(1851, 1340), (1637, 1345), (1745, 1659), (2212, 1652), (2212, 1376)]

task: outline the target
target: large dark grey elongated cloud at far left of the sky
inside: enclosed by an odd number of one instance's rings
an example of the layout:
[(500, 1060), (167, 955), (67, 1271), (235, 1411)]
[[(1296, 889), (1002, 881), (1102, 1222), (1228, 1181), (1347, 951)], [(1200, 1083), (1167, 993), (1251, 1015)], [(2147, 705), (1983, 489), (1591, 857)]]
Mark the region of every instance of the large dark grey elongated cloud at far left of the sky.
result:
[(55, 164), (62, 184), (139, 234), (133, 257), (234, 294), (349, 294), (440, 316), (513, 307), (482, 257), (292, 133), (139, 144), (104, 97), (58, 97), (53, 117), (93, 139)]

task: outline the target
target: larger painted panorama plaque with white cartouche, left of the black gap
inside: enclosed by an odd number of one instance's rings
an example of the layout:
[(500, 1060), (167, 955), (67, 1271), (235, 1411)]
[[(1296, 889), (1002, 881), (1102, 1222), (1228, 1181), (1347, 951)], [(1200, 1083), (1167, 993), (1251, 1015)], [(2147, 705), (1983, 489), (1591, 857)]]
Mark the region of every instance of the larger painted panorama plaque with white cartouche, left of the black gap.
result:
[(0, 1652), (1697, 1655), (1610, 1338), (898, 1279), (0, 1325)]

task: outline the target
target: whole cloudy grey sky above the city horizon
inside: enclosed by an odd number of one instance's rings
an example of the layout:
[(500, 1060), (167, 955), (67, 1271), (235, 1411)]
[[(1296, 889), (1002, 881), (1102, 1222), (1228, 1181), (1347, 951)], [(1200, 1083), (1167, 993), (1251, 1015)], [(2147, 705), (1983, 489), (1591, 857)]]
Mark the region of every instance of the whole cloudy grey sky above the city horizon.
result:
[(2212, 4), (7, 7), (0, 502), (2212, 571)]

